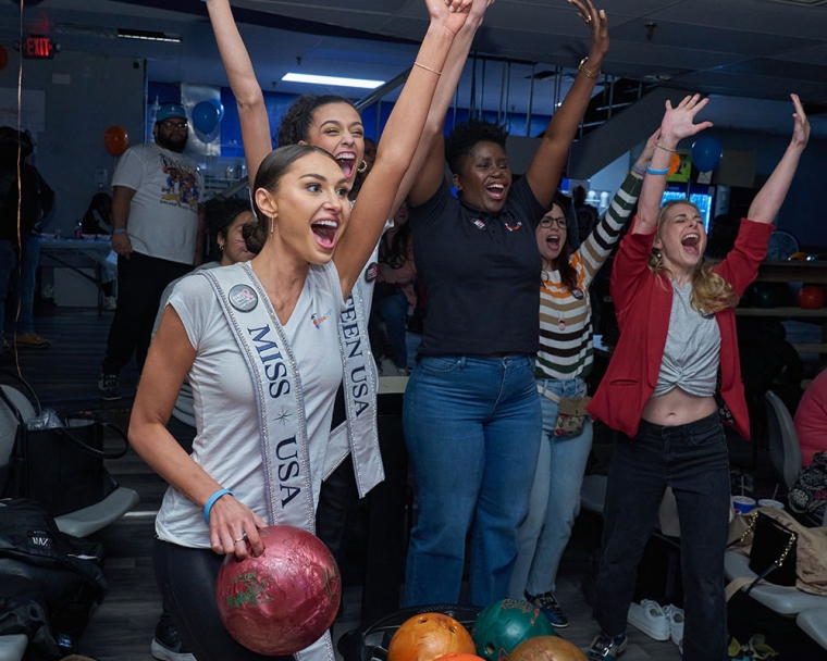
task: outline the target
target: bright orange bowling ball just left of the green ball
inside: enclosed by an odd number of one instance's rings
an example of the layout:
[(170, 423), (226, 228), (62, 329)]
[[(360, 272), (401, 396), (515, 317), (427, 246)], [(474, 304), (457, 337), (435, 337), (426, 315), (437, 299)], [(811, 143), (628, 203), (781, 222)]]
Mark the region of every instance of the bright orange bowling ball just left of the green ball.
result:
[(476, 651), (471, 634), (454, 618), (420, 613), (408, 619), (391, 638), (387, 661), (435, 661), (452, 652), (473, 656)]

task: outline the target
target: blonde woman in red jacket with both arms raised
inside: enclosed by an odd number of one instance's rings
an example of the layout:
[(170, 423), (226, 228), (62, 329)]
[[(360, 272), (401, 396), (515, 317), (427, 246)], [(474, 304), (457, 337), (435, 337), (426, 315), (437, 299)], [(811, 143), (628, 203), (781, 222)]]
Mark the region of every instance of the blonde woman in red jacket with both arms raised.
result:
[(666, 102), (639, 214), (612, 273), (620, 341), (589, 410), (626, 436), (609, 470), (594, 609), (601, 634), (589, 659), (614, 661), (626, 649), (635, 570), (667, 486), (675, 492), (681, 529), (683, 660), (726, 656), (729, 461), (714, 396), (719, 388), (735, 427), (749, 437), (733, 307), (766, 254), (810, 125), (792, 95), (790, 146), (752, 202), (733, 250), (712, 267), (703, 263), (706, 232), (694, 204), (675, 201), (661, 209), (678, 142), (711, 126), (694, 123), (706, 102), (698, 95), (677, 108)]

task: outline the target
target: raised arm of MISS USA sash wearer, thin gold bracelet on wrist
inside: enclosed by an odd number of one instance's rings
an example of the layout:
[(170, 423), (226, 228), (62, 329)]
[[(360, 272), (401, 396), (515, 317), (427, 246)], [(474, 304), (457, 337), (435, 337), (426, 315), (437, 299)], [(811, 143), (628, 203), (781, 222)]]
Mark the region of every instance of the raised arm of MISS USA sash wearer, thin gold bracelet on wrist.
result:
[(470, 9), (470, 0), (452, 0), (450, 5), (446, 5), (445, 0), (425, 0), (425, 4), (431, 24), (385, 125), (377, 162), (350, 213), (350, 226), (333, 257), (345, 296), (359, 277), (390, 216), (397, 189), (422, 136), (448, 50)]

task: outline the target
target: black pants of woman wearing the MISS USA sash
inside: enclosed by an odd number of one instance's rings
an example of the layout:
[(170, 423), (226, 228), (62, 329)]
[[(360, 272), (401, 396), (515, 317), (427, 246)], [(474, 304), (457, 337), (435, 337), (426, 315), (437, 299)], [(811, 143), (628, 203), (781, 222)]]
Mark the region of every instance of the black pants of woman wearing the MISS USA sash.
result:
[(224, 556), (156, 539), (153, 562), (163, 602), (184, 644), (198, 661), (260, 661), (266, 657), (239, 645), (227, 633), (215, 606), (215, 577)]

